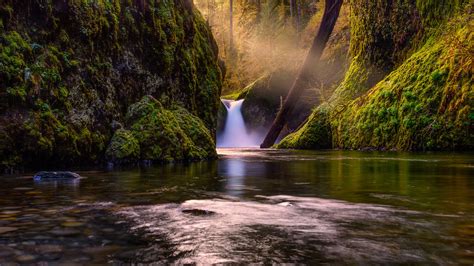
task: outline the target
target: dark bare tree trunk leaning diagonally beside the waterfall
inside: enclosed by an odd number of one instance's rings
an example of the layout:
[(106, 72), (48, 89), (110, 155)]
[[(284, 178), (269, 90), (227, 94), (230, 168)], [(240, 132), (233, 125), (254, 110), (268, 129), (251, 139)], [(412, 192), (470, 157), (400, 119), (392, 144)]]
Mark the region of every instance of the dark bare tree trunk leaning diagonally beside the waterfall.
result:
[(295, 108), (298, 98), (307, 88), (308, 83), (313, 76), (314, 67), (319, 62), (323, 50), (326, 47), (326, 43), (329, 40), (329, 36), (331, 35), (337, 18), (339, 17), (342, 1), (343, 0), (326, 0), (324, 15), (321, 25), (319, 26), (318, 34), (314, 38), (313, 45), (306, 56), (303, 66), (301, 67), (301, 70), (295, 79), (293, 86), (286, 96), (283, 106), (273, 121), (272, 127), (268, 131), (262, 145), (260, 145), (261, 148), (269, 148), (275, 143), (276, 139), (280, 135), (281, 130), (287, 122), (288, 116)]

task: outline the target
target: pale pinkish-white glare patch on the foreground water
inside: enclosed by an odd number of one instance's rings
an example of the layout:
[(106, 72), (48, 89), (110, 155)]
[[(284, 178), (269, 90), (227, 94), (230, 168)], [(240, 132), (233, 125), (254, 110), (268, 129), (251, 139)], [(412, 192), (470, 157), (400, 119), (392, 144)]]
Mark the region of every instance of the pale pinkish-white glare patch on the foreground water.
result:
[[(257, 201), (255, 201), (257, 200)], [(184, 210), (201, 210), (206, 216)], [(138, 252), (138, 261), (173, 253), (177, 264), (214, 263), (420, 263), (438, 225), (425, 214), (387, 206), (293, 196), (254, 201), (189, 200), (126, 208), (133, 230), (167, 240), (166, 247)], [(423, 239), (405, 239), (416, 232)], [(443, 232), (446, 234), (446, 232)], [(367, 247), (370, 247), (369, 249)], [(160, 262), (170, 262), (164, 259)]]

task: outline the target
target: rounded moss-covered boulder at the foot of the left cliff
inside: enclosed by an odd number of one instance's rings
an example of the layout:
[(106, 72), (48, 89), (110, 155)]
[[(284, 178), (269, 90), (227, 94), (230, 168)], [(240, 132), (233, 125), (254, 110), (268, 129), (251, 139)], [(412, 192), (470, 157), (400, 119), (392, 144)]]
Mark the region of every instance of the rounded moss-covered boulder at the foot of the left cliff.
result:
[[(152, 161), (199, 160), (216, 156), (214, 139), (209, 129), (198, 117), (186, 109), (175, 106), (165, 109), (152, 96), (145, 96), (141, 101), (130, 106), (126, 127), (129, 131), (118, 130), (109, 146), (114, 149), (114, 140), (127, 133), (125, 144), (120, 147), (139, 151), (137, 158)], [(135, 144), (136, 143), (136, 146)], [(120, 154), (120, 152), (119, 152)], [(121, 159), (114, 156), (112, 159)]]

